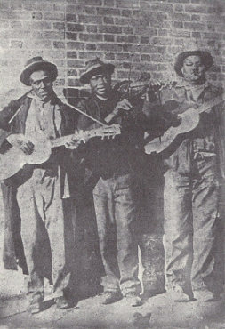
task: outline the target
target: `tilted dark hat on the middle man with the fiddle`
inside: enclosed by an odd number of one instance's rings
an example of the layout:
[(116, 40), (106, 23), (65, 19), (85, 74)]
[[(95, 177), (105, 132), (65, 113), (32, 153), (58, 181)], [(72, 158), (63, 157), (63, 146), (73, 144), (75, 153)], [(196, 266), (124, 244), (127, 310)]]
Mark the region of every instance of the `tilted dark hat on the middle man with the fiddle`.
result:
[(115, 66), (113, 64), (107, 64), (101, 61), (99, 58), (89, 60), (86, 63), (84, 73), (80, 76), (80, 82), (82, 84), (88, 84), (92, 76), (96, 76), (101, 73), (113, 74)]

